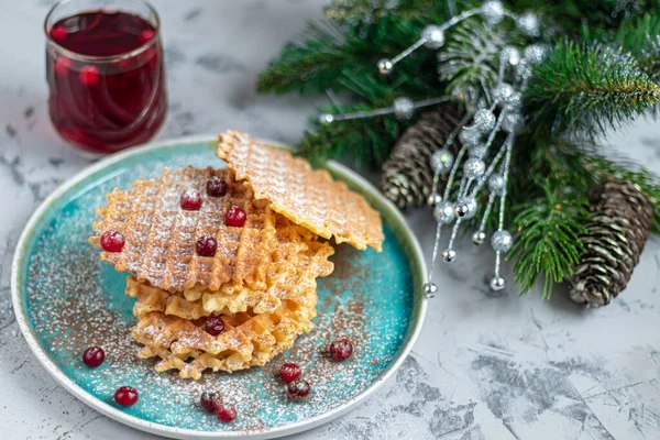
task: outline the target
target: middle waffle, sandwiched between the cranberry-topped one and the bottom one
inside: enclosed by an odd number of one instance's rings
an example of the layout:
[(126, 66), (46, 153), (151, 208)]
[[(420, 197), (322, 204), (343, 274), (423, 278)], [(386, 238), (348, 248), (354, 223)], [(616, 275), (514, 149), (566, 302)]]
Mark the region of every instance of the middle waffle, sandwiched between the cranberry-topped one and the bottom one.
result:
[[(212, 292), (201, 286), (182, 293), (172, 293), (141, 283), (134, 276), (127, 278), (127, 295), (138, 298), (133, 306), (136, 317), (162, 311), (184, 319), (199, 319), (209, 315), (237, 314), (252, 310), (254, 314), (273, 312), (282, 306), (283, 299), (297, 298), (309, 289), (316, 289), (316, 278), (327, 276), (333, 270), (328, 257), (334, 250), (328, 243), (316, 241), (311, 232), (298, 235), (296, 228), (278, 229), (278, 234), (296, 234), (292, 238), (292, 252), (286, 255), (273, 255), (266, 270), (268, 288), (253, 290), (240, 288), (235, 283), (224, 284), (220, 290)], [(301, 240), (297, 240), (297, 239)], [(282, 239), (280, 242), (285, 240)], [(293, 270), (292, 270), (293, 268)]]

